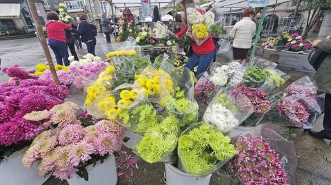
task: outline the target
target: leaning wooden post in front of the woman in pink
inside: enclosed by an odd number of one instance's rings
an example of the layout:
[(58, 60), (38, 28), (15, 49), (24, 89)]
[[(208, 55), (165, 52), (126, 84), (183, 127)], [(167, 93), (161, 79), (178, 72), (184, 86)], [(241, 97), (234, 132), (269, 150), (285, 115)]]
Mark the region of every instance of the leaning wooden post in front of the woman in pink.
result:
[(48, 49), (48, 44), (45, 38), (45, 34), (43, 33), (43, 28), (40, 23), (39, 15), (37, 12), (36, 5), (34, 4), (34, 0), (28, 0), (28, 5), (30, 8), (30, 12), (32, 14), (32, 18), (34, 19), (34, 25), (36, 26), (39, 39), (41, 42), (41, 46), (43, 47), (43, 52), (45, 52), (45, 56), (48, 62), (48, 66), (50, 66), (50, 72), (52, 73), (55, 84), (59, 85), (59, 78), (57, 78), (57, 72), (55, 71), (54, 63), (52, 61), (52, 56), (50, 55), (50, 50)]

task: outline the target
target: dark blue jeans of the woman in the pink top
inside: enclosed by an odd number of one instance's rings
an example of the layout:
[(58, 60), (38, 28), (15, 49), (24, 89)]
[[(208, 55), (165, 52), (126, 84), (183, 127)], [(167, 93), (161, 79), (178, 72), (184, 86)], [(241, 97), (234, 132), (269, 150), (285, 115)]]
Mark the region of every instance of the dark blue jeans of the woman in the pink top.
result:
[(48, 40), (48, 45), (50, 45), (50, 49), (53, 50), (55, 54), (55, 58), (57, 59), (57, 64), (68, 66), (70, 65), (69, 62), (69, 53), (67, 43), (63, 41), (57, 41), (53, 39)]

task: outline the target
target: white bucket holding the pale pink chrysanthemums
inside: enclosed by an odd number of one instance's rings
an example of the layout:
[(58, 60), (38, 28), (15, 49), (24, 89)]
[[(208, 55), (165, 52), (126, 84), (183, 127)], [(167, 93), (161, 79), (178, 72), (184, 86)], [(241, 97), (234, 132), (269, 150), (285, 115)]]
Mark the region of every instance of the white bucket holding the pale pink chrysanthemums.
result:
[(88, 171), (88, 181), (79, 177), (76, 173), (70, 179), (67, 179), (70, 185), (116, 185), (117, 169), (114, 155), (110, 155), (107, 160), (101, 164), (97, 162), (96, 166), (91, 164), (86, 167)]

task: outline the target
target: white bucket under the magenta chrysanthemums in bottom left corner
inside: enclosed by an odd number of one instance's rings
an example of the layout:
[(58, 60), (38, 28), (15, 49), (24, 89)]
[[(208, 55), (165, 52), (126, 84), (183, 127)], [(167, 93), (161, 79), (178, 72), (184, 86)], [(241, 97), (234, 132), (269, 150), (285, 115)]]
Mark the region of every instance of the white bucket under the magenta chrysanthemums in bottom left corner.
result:
[(50, 175), (47, 175), (46, 177), (38, 175), (38, 162), (34, 162), (30, 169), (23, 166), (22, 159), (27, 150), (28, 147), (16, 151), (0, 163), (1, 185), (41, 185), (50, 177)]

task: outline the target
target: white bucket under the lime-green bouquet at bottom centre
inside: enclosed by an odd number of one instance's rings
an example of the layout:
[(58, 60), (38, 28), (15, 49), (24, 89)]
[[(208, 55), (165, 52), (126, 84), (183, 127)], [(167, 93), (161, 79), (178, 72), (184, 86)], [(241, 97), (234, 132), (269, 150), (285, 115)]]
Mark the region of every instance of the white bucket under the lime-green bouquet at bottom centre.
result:
[(184, 173), (171, 164), (165, 164), (165, 177), (168, 185), (208, 185), (212, 174), (207, 177), (197, 177)]

